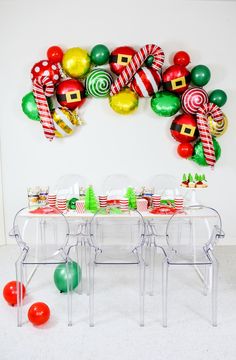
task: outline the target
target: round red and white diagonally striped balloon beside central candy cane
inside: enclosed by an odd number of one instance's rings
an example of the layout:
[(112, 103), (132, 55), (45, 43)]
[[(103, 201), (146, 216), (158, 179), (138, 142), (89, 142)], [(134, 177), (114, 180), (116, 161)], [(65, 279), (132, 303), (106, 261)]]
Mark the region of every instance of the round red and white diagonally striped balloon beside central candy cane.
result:
[(140, 68), (131, 81), (130, 88), (141, 97), (149, 97), (158, 91), (161, 75), (152, 68)]

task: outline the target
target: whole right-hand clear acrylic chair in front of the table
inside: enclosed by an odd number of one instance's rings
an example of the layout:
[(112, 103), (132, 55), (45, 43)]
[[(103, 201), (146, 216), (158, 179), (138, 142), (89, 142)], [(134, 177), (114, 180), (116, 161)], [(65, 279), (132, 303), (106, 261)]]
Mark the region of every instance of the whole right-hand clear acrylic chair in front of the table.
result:
[[(213, 249), (224, 237), (219, 213), (207, 206), (189, 206), (175, 213), (166, 227), (162, 263), (162, 324), (167, 326), (167, 287), (170, 266), (194, 266), (203, 282), (204, 294), (211, 289), (212, 325), (217, 326), (218, 262)], [(160, 247), (155, 243), (155, 247)], [(203, 268), (203, 272), (202, 272)]]

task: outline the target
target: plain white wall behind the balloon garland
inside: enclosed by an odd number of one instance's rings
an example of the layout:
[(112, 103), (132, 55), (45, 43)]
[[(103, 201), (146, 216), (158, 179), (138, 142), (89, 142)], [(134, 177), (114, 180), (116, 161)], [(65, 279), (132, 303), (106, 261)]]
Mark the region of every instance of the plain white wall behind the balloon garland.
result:
[[(223, 215), (227, 242), (236, 240), (235, 162), (235, 11), (227, 1), (0, 1), (1, 34), (1, 142), (6, 231), (13, 214), (26, 204), (26, 187), (53, 184), (71, 172), (98, 185), (105, 175), (124, 172), (141, 182), (154, 173), (205, 172), (209, 189), (204, 202)], [(4, 35), (3, 35), (4, 34)], [(104, 43), (110, 49), (131, 45), (137, 49), (157, 43), (167, 62), (186, 50), (192, 66), (206, 64), (212, 72), (207, 90), (228, 94), (223, 110), (227, 133), (219, 138), (222, 156), (215, 170), (200, 168), (176, 155), (178, 145), (169, 133), (171, 119), (159, 118), (149, 100), (128, 117), (115, 114), (108, 100), (88, 100), (81, 109), (86, 125), (67, 139), (49, 143), (39, 123), (26, 118), (21, 98), (31, 90), (30, 69), (45, 58), (48, 47), (91, 49)], [(101, 145), (101, 139), (104, 145)]]

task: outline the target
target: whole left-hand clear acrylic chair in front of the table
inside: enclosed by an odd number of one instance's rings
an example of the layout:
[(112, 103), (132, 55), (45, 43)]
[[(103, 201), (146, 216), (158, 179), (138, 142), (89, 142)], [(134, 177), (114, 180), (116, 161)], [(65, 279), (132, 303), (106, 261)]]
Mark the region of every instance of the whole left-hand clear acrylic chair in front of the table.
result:
[[(14, 217), (10, 232), (20, 248), (20, 256), (15, 263), (17, 281), (17, 325), (22, 326), (22, 284), (27, 287), (40, 265), (65, 264), (67, 272), (67, 311), (68, 326), (72, 325), (72, 284), (69, 257), (72, 247), (77, 245), (76, 239), (70, 235), (68, 221), (65, 216), (54, 209), (52, 215), (32, 215), (28, 208), (18, 211)], [(27, 267), (33, 271), (27, 277)]]

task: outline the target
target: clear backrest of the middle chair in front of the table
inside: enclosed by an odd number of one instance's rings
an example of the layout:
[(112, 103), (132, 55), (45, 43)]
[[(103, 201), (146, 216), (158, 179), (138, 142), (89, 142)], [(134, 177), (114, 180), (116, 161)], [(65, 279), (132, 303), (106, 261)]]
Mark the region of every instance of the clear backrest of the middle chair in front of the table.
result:
[(112, 257), (116, 259), (119, 254), (128, 256), (138, 248), (145, 240), (146, 233), (143, 216), (138, 211), (132, 211), (130, 215), (104, 215), (104, 211), (99, 210), (90, 220), (88, 229), (90, 245), (104, 253), (110, 248)]

